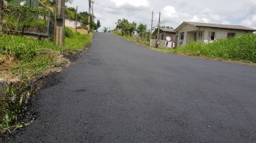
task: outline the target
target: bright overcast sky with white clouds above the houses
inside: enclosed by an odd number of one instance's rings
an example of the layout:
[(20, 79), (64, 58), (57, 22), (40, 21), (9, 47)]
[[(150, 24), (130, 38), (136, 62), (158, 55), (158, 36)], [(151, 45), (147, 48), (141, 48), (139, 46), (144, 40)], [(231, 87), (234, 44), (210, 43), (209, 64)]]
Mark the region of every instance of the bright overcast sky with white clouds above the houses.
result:
[[(96, 3), (97, 2), (97, 3)], [(88, 0), (74, 0), (67, 7), (78, 6), (78, 12), (89, 11)], [(118, 19), (128, 19), (150, 29), (152, 12), (156, 26), (161, 12), (161, 26), (178, 27), (182, 22), (242, 25), (256, 28), (256, 0), (95, 0), (95, 21), (113, 29)], [(116, 24), (114, 24), (114, 27)]]

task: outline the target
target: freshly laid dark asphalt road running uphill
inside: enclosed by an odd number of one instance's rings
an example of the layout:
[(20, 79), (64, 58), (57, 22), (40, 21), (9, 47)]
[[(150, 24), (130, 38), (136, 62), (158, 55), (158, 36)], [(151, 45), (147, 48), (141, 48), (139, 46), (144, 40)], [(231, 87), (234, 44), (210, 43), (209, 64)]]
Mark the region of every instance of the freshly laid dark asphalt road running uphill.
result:
[(14, 142), (256, 142), (256, 68), (95, 33)]

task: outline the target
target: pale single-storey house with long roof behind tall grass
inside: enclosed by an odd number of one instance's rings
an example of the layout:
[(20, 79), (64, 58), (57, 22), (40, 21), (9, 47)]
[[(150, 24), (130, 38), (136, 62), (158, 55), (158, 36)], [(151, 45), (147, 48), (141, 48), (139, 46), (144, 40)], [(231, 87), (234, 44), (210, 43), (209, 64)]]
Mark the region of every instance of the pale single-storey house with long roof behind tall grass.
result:
[(178, 34), (179, 47), (180, 45), (186, 45), (189, 41), (212, 43), (217, 39), (233, 37), (243, 33), (253, 34), (256, 29), (238, 25), (182, 22), (175, 31)]

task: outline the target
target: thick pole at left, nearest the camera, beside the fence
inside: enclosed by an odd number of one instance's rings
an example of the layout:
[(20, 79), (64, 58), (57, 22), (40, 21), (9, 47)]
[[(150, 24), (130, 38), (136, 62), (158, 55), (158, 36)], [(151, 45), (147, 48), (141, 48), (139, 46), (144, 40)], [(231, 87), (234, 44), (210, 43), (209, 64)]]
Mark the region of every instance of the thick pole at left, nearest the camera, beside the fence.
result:
[(65, 37), (65, 0), (56, 0), (55, 3), (55, 26), (54, 41), (57, 44), (64, 45)]

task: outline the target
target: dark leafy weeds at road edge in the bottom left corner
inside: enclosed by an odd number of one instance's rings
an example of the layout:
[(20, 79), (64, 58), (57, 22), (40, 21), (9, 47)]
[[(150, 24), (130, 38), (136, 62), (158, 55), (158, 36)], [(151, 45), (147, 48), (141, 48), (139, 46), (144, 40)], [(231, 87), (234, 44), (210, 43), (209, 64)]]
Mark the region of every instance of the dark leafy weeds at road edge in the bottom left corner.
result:
[(5, 97), (0, 100), (3, 103), (0, 107), (0, 127), (8, 128), (13, 125), (22, 125), (25, 127), (25, 123), (22, 121), (25, 116), (25, 106), (31, 102), (34, 94), (34, 89), (29, 88), (29, 77), (27, 81), (22, 80), (17, 86), (11, 84), (5, 84)]

